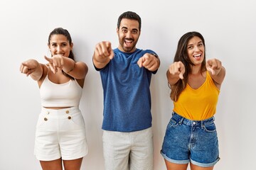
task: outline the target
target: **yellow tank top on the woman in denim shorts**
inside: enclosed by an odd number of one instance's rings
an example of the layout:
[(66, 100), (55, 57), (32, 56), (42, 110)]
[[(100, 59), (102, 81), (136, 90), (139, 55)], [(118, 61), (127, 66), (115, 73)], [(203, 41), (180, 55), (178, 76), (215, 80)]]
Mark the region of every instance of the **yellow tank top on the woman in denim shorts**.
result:
[(206, 81), (198, 89), (188, 84), (174, 102), (174, 112), (189, 120), (205, 120), (216, 112), (220, 90), (215, 86), (210, 74), (206, 73)]

